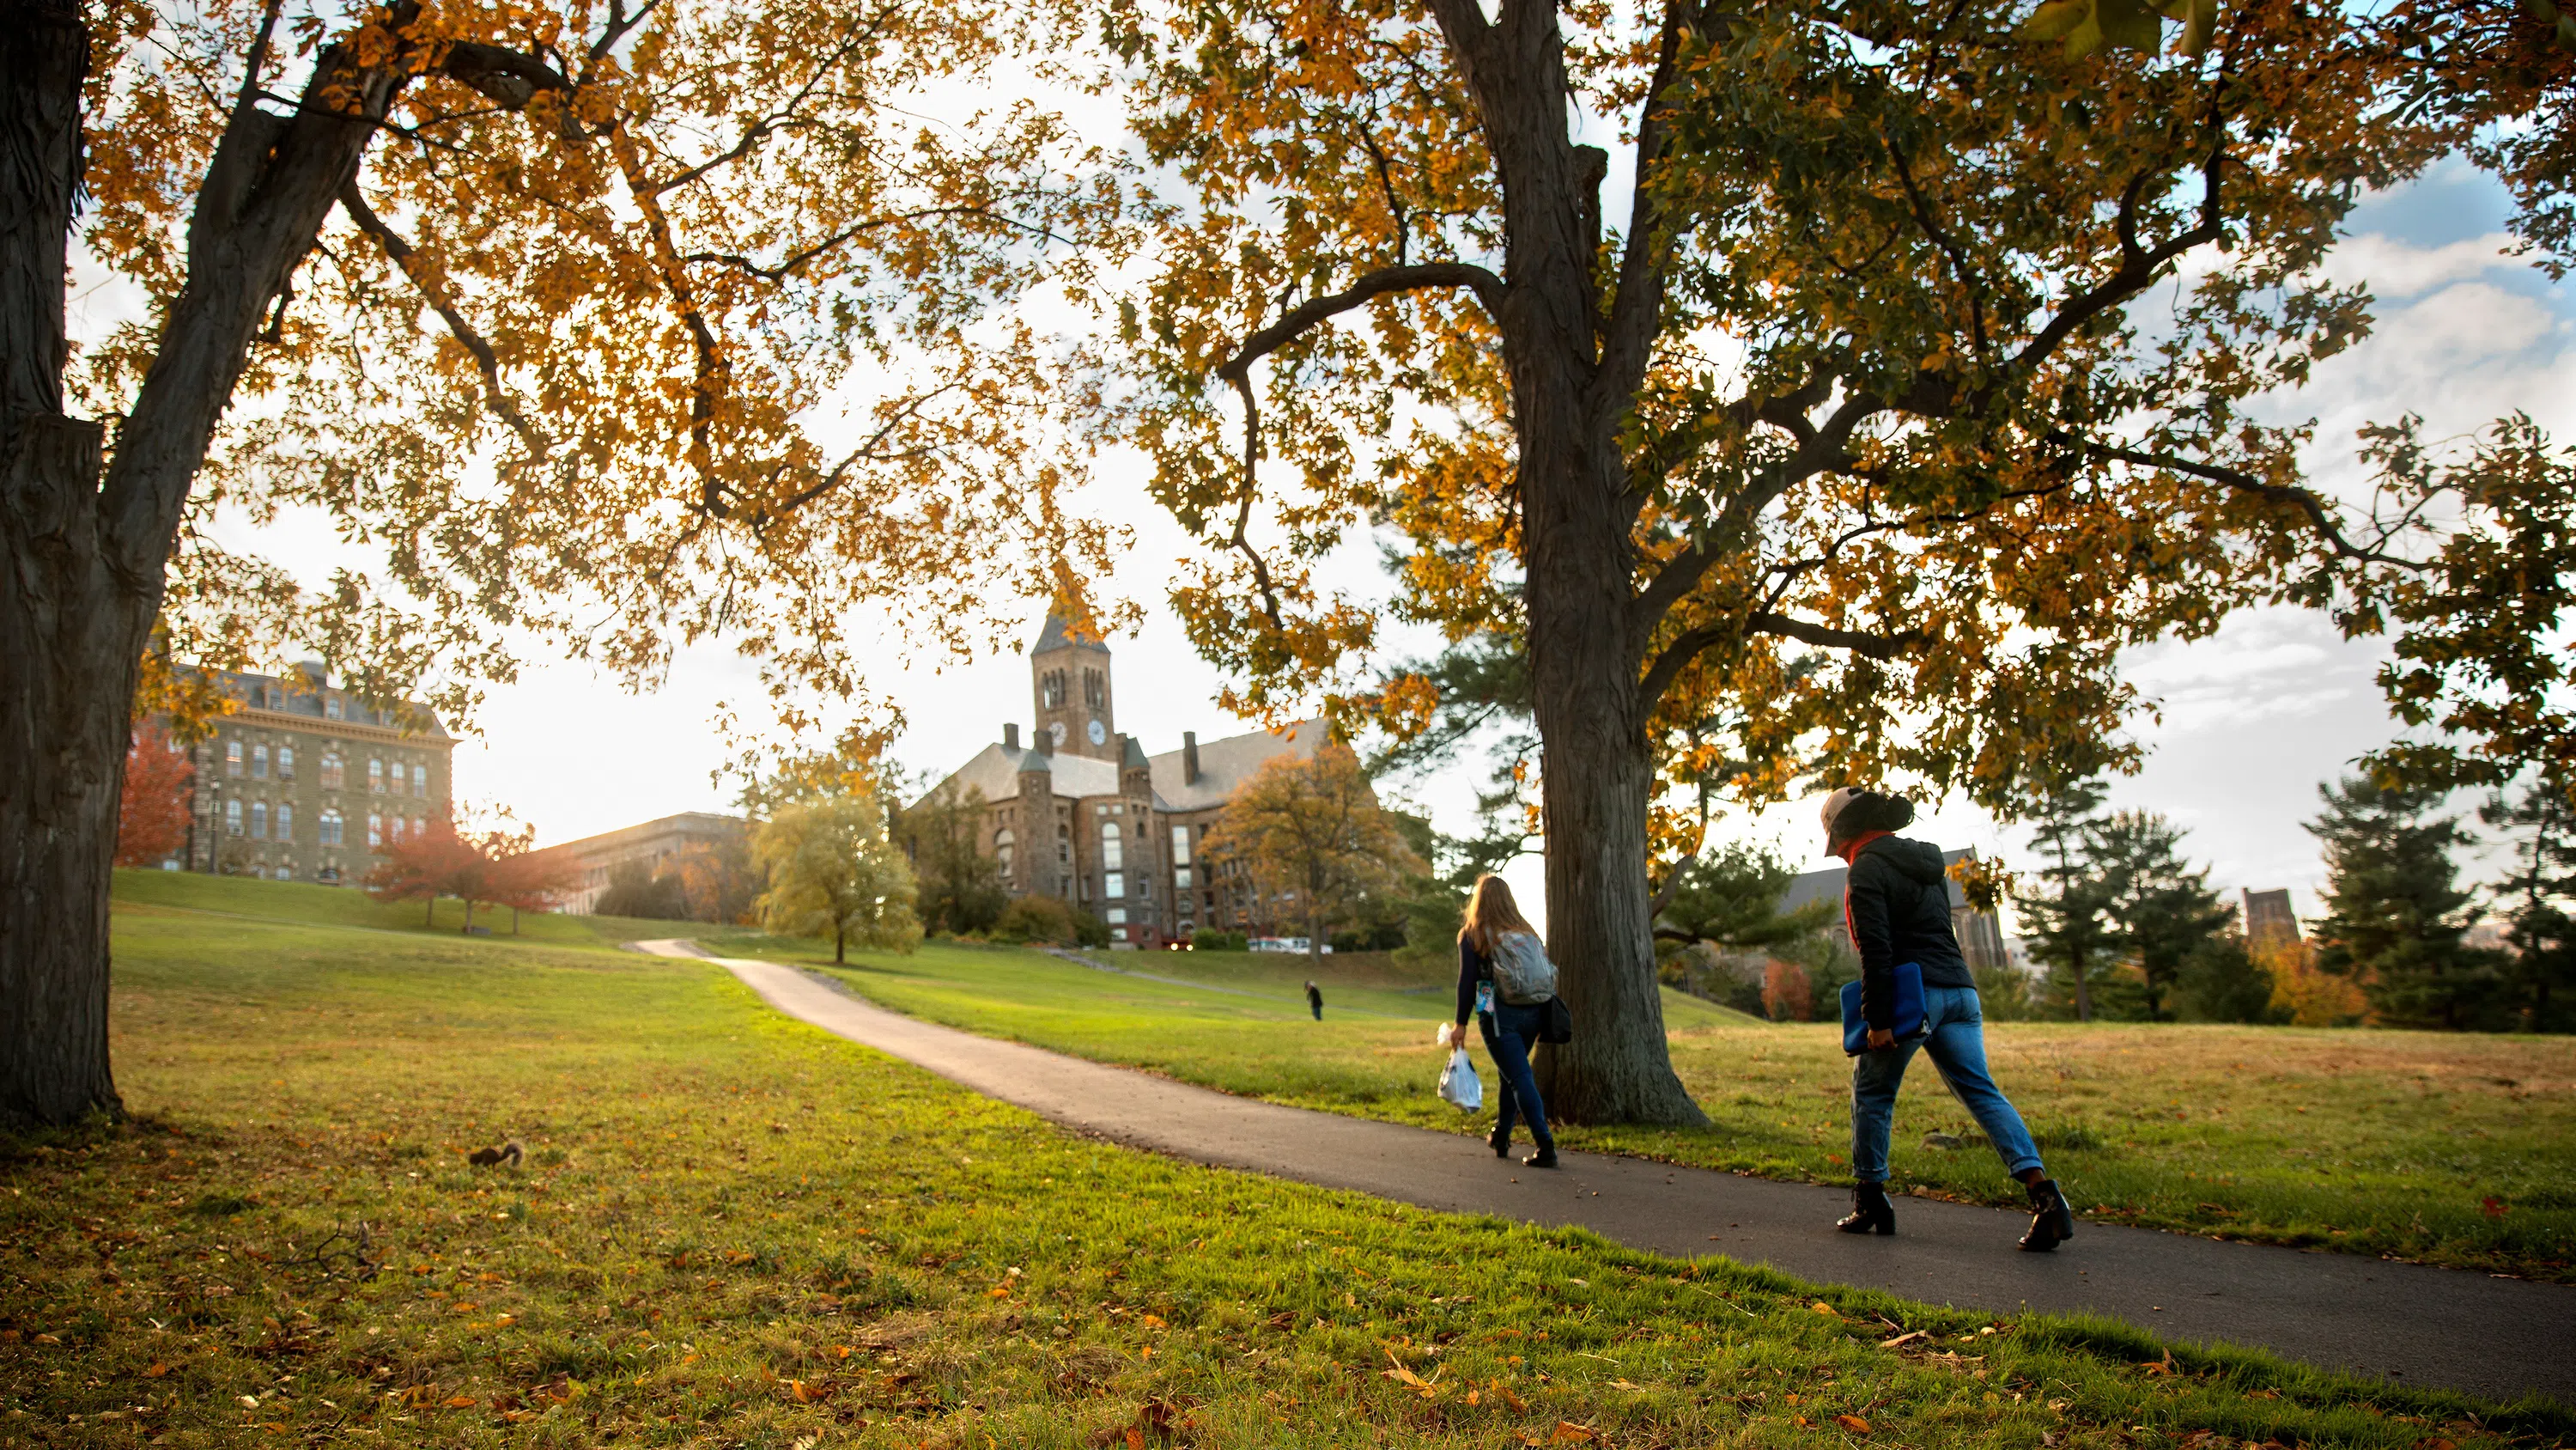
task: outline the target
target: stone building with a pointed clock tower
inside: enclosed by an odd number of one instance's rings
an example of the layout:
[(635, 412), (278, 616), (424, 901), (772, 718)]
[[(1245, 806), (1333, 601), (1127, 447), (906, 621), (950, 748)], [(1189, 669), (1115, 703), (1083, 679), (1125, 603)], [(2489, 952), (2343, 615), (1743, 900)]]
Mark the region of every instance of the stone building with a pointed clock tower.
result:
[[(1118, 734), (1110, 649), (1048, 618), (1028, 652), (1036, 731), (1020, 726), (930, 788), (981, 796), (976, 845), (1002, 863), (1012, 896), (1059, 896), (1108, 922), (1110, 943), (1159, 948), (1193, 930), (1244, 930), (1267, 917), (1239, 876), (1211, 876), (1198, 842), (1216, 811), (1270, 760), (1311, 760), (1324, 721), (1146, 755)], [(925, 796), (925, 798), (927, 798)]]

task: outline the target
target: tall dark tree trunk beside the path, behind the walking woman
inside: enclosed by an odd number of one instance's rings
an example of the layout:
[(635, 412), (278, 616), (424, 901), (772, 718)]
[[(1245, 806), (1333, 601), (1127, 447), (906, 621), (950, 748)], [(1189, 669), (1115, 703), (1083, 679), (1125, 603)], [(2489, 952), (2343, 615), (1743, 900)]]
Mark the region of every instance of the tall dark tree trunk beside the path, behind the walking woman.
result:
[[(1631, 528), (1638, 500), (1618, 446), (1643, 355), (1605, 350), (1600, 185), (1607, 155), (1571, 139), (1556, 8), (1435, 0), (1502, 180), (1504, 368), (1528, 556), (1530, 688), (1543, 742), (1548, 956), (1574, 1040), (1538, 1053), (1548, 1115), (1566, 1123), (1708, 1118), (1664, 1043), (1646, 894), (1654, 762), (1638, 688)], [(1631, 237), (1631, 247), (1643, 240)]]

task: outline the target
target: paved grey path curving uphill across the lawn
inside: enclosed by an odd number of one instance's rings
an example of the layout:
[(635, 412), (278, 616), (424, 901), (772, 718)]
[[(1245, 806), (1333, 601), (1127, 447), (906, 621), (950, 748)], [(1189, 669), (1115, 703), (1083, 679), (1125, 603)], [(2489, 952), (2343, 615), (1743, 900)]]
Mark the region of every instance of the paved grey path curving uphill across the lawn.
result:
[[(636, 945), (706, 956), (685, 940)], [(1453, 1213), (1579, 1223), (1638, 1249), (1723, 1252), (1929, 1303), (2092, 1311), (2409, 1386), (2576, 1404), (2576, 1288), (2566, 1285), (2105, 1223), (2084, 1223), (2056, 1254), (2022, 1254), (2012, 1241), (2027, 1216), (1924, 1198), (1896, 1200), (1893, 1239), (1852, 1239), (1829, 1229), (1847, 1198), (1829, 1187), (1600, 1154), (1564, 1154), (1561, 1172), (1499, 1164), (1476, 1138), (1229, 1097), (886, 1012), (793, 966), (711, 961), (827, 1033), (1056, 1123), (1203, 1164)], [(1425, 1051), (1422, 1071), (1435, 1066)]]

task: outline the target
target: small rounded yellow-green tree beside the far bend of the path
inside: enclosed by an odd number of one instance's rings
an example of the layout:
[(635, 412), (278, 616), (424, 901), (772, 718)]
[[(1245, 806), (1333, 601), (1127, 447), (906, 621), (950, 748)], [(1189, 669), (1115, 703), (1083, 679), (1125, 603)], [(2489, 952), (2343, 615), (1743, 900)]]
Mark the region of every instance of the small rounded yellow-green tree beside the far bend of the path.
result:
[(752, 834), (752, 858), (768, 871), (760, 925), (778, 935), (832, 937), (832, 961), (850, 961), (850, 943), (912, 950), (922, 922), (912, 914), (912, 868), (886, 834), (876, 793), (811, 796), (778, 806)]

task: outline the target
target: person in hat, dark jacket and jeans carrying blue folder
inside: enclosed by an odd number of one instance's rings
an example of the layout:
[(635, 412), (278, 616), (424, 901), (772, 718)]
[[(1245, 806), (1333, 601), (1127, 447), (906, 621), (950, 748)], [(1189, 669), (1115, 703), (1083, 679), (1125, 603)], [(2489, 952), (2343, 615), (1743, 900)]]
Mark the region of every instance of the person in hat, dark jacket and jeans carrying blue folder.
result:
[[(1868, 1020), (1868, 1048), (1852, 1059), (1852, 1213), (1837, 1229), (1896, 1231), (1896, 1208), (1888, 1203), (1888, 1125), (1896, 1120), (1896, 1087), (1906, 1079), (1906, 1064), (1914, 1048), (1924, 1048), (1950, 1092), (1986, 1128), (2004, 1172), (2030, 1190), (2030, 1231), (2022, 1234), (2022, 1249), (2048, 1252), (2074, 1236), (2074, 1210), (2040, 1169), (2040, 1149), (2030, 1141), (2022, 1115), (1986, 1074), (1986, 1017), (1976, 1002), (1968, 958), (1950, 930), (1950, 881), (1940, 847), (1893, 834), (1911, 822), (1914, 804), (1904, 796), (1844, 786), (1824, 798), (1824, 850), (1850, 865), (1842, 883), (1842, 919), (1860, 950), (1860, 1015)], [(1896, 1038), (1901, 963), (1922, 968), (1924, 981), (1922, 1025), (1904, 1040)]]

